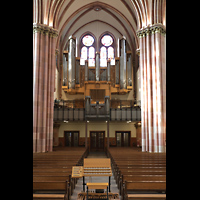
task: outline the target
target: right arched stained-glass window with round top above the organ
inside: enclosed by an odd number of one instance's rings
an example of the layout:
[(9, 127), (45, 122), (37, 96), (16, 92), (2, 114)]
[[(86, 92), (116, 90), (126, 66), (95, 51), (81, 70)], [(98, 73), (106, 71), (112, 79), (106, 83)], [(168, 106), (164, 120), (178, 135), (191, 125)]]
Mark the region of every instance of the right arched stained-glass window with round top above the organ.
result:
[(107, 67), (107, 60), (111, 61), (111, 65), (115, 65), (115, 51), (113, 44), (114, 40), (110, 35), (103, 35), (100, 44), (100, 67)]

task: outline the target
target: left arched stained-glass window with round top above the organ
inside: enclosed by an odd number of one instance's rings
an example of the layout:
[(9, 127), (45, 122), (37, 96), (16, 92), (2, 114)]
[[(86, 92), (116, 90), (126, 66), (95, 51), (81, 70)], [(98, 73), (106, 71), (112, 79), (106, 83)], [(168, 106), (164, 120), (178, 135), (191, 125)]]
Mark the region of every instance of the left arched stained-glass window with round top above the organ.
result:
[(85, 65), (85, 60), (88, 60), (88, 66), (95, 66), (95, 48), (94, 38), (87, 34), (81, 40), (81, 58), (80, 65)]

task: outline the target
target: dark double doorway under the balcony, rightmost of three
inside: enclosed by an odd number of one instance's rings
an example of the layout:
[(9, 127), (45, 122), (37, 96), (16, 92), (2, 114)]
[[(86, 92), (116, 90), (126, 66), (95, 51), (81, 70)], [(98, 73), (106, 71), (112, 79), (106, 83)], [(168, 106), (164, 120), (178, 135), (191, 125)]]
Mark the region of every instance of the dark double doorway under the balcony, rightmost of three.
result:
[(116, 144), (117, 147), (129, 147), (131, 131), (116, 131)]

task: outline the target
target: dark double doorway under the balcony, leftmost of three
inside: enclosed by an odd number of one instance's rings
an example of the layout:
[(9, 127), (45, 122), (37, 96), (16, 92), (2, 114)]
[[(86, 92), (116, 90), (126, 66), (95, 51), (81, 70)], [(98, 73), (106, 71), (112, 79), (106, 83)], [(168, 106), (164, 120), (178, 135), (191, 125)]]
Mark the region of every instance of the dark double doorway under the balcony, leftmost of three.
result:
[(64, 131), (64, 137), (66, 147), (78, 147), (79, 131)]

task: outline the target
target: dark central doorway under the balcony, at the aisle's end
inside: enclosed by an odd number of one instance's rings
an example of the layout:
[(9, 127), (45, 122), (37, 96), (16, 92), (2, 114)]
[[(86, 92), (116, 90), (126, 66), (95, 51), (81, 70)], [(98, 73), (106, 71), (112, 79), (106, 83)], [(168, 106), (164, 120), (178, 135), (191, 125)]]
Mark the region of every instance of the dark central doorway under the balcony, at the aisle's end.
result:
[(104, 151), (105, 131), (90, 131), (90, 150)]

